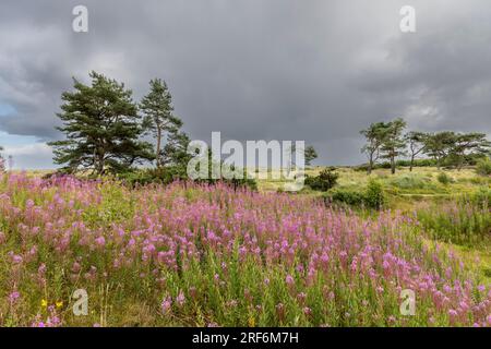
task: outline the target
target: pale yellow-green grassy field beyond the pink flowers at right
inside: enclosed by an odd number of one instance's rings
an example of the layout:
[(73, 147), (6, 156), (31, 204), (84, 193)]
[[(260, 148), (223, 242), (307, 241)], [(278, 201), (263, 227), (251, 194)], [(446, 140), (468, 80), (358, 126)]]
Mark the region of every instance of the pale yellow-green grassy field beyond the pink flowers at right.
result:
[[(318, 176), (323, 167), (313, 167), (306, 170), (307, 176)], [(387, 195), (387, 207), (393, 210), (400, 210), (406, 215), (420, 213), (439, 213), (443, 217), (452, 218), (455, 212), (469, 212), (466, 209), (454, 208), (453, 213), (445, 212), (444, 208), (453, 206), (462, 197), (472, 196), (481, 191), (491, 190), (491, 178), (476, 174), (474, 168), (464, 168), (462, 170), (444, 169), (439, 170), (435, 167), (416, 167), (412, 171), (409, 168), (398, 168), (395, 174), (391, 174), (390, 169), (375, 169), (371, 176), (366, 171), (355, 170), (350, 167), (339, 167), (336, 171), (340, 174), (336, 189), (348, 191), (363, 191), (371, 179), (382, 183)], [(438, 180), (440, 173), (444, 172), (448, 178), (448, 183), (441, 183)], [(277, 174), (277, 173), (276, 173)], [(280, 191), (284, 182), (280, 180), (262, 180), (259, 182), (260, 191), (274, 192)], [(302, 191), (303, 195), (313, 197), (322, 195), (320, 192), (311, 191), (308, 188)], [(489, 195), (489, 194), (488, 194)], [(455, 244), (443, 241), (443, 246), (456, 251), (466, 261), (467, 265), (472, 266), (491, 285), (491, 226), (489, 220), (489, 206), (481, 209), (486, 216), (486, 225), (482, 230), (487, 239), (478, 239), (470, 244)], [(363, 213), (364, 214), (364, 213)], [(431, 216), (431, 215), (430, 215)], [(443, 217), (441, 220), (443, 220)], [(454, 227), (443, 227), (446, 230), (464, 231), (466, 229), (475, 230), (475, 227), (463, 227), (448, 220), (448, 225)], [(471, 225), (471, 222), (470, 222)], [(429, 227), (431, 229), (431, 227)], [(429, 241), (432, 241), (431, 239)], [(439, 241), (442, 243), (441, 239)]]

